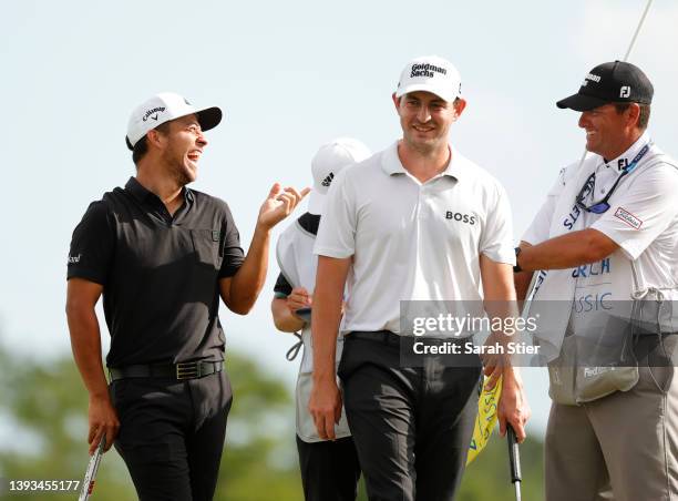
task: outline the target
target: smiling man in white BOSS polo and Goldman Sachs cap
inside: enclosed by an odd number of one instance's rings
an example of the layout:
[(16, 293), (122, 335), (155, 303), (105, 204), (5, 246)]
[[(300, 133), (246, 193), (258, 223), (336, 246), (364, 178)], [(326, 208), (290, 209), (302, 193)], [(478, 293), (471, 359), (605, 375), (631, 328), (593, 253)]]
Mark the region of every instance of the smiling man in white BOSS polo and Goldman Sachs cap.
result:
[[(314, 389), (318, 434), (341, 415), (335, 344), (348, 296), (339, 367), (346, 412), (371, 500), (451, 500), (477, 408), (480, 360), (400, 366), (401, 300), (511, 300), (511, 212), (502, 186), (449, 144), (464, 110), (456, 69), (438, 57), (404, 68), (392, 99), (402, 140), (335, 180), (315, 252)], [(528, 410), (506, 366), (502, 428), (524, 438)]]

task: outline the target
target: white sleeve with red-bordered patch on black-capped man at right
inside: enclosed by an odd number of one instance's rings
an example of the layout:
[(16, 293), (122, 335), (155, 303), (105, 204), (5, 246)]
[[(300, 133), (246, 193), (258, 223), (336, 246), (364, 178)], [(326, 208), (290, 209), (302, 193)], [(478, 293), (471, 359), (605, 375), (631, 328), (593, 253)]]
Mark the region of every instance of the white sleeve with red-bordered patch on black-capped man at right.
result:
[(590, 227), (615, 241), (629, 259), (637, 259), (676, 219), (678, 171), (662, 163), (628, 181), (628, 190), (613, 196), (610, 207)]

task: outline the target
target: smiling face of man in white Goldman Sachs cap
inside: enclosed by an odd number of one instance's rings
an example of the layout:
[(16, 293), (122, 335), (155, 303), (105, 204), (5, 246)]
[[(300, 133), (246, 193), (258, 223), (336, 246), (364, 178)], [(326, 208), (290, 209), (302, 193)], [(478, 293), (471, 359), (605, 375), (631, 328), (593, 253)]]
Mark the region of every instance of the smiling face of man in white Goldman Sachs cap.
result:
[(462, 99), (449, 102), (425, 91), (410, 92), (401, 98), (393, 95), (393, 103), (404, 143), (423, 154), (448, 147), (450, 125), (466, 104)]

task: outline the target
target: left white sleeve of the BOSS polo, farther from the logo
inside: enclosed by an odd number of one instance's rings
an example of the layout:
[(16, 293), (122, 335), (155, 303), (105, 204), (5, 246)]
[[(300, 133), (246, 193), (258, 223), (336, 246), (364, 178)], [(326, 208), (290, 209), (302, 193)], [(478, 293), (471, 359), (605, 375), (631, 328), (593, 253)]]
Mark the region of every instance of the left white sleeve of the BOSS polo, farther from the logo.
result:
[(345, 258), (356, 253), (356, 190), (349, 176), (352, 168), (341, 171), (330, 185), (314, 254)]

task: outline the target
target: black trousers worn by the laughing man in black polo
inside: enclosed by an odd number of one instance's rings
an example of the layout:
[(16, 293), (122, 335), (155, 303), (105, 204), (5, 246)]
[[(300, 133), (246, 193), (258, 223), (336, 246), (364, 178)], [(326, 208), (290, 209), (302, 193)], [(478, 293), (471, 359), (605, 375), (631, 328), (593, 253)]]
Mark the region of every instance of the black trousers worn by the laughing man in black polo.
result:
[(121, 423), (115, 449), (140, 500), (212, 500), (232, 402), (226, 372), (121, 379), (111, 396)]

